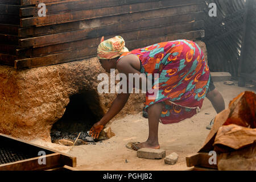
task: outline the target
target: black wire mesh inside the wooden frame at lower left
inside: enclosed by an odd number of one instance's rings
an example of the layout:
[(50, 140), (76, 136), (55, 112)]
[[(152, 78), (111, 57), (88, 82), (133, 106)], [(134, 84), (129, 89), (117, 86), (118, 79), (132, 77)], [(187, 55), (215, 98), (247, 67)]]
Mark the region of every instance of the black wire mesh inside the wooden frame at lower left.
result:
[(13, 147), (0, 147), (0, 164), (12, 163), (19, 160), (30, 159), (34, 156), (17, 151)]

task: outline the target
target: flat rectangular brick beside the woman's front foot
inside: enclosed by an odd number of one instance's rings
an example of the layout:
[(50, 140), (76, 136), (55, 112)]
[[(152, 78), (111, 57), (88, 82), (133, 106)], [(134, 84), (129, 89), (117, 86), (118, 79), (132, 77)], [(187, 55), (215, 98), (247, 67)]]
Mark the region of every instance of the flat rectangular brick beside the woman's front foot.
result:
[(141, 148), (137, 151), (138, 158), (145, 159), (163, 159), (166, 156), (166, 151), (154, 148)]

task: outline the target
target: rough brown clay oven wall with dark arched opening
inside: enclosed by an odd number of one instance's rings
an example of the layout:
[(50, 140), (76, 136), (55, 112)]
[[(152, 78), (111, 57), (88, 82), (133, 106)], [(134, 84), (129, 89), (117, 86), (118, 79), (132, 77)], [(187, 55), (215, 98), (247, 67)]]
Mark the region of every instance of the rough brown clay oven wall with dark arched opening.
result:
[[(91, 126), (115, 98), (115, 94), (98, 94), (97, 75), (102, 72), (97, 58), (22, 70), (1, 65), (0, 133), (50, 141), (52, 126), (58, 127), (59, 119), (63, 127), (72, 125), (67, 122), (71, 118), (77, 122), (73, 129), (81, 121)], [(143, 94), (131, 94), (119, 116), (138, 113), (143, 101)]]

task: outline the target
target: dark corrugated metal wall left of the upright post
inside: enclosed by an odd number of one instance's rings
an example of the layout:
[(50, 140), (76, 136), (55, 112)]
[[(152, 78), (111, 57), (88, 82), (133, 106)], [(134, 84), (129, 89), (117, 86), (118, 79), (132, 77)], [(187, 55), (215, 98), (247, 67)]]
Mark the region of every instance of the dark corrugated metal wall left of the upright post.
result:
[(210, 17), (205, 10), (205, 38), (208, 64), (212, 72), (230, 72), (237, 76), (243, 33), (243, 0), (207, 0), (216, 3), (217, 16)]

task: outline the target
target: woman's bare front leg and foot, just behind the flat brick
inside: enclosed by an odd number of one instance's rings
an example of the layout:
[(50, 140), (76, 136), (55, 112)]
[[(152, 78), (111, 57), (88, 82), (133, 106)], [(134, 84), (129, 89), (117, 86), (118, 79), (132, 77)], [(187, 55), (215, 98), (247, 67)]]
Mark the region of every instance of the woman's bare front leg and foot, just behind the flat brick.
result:
[(136, 144), (139, 148), (160, 148), (158, 143), (158, 125), (162, 113), (162, 103), (153, 104), (148, 107), (148, 138), (146, 142)]

